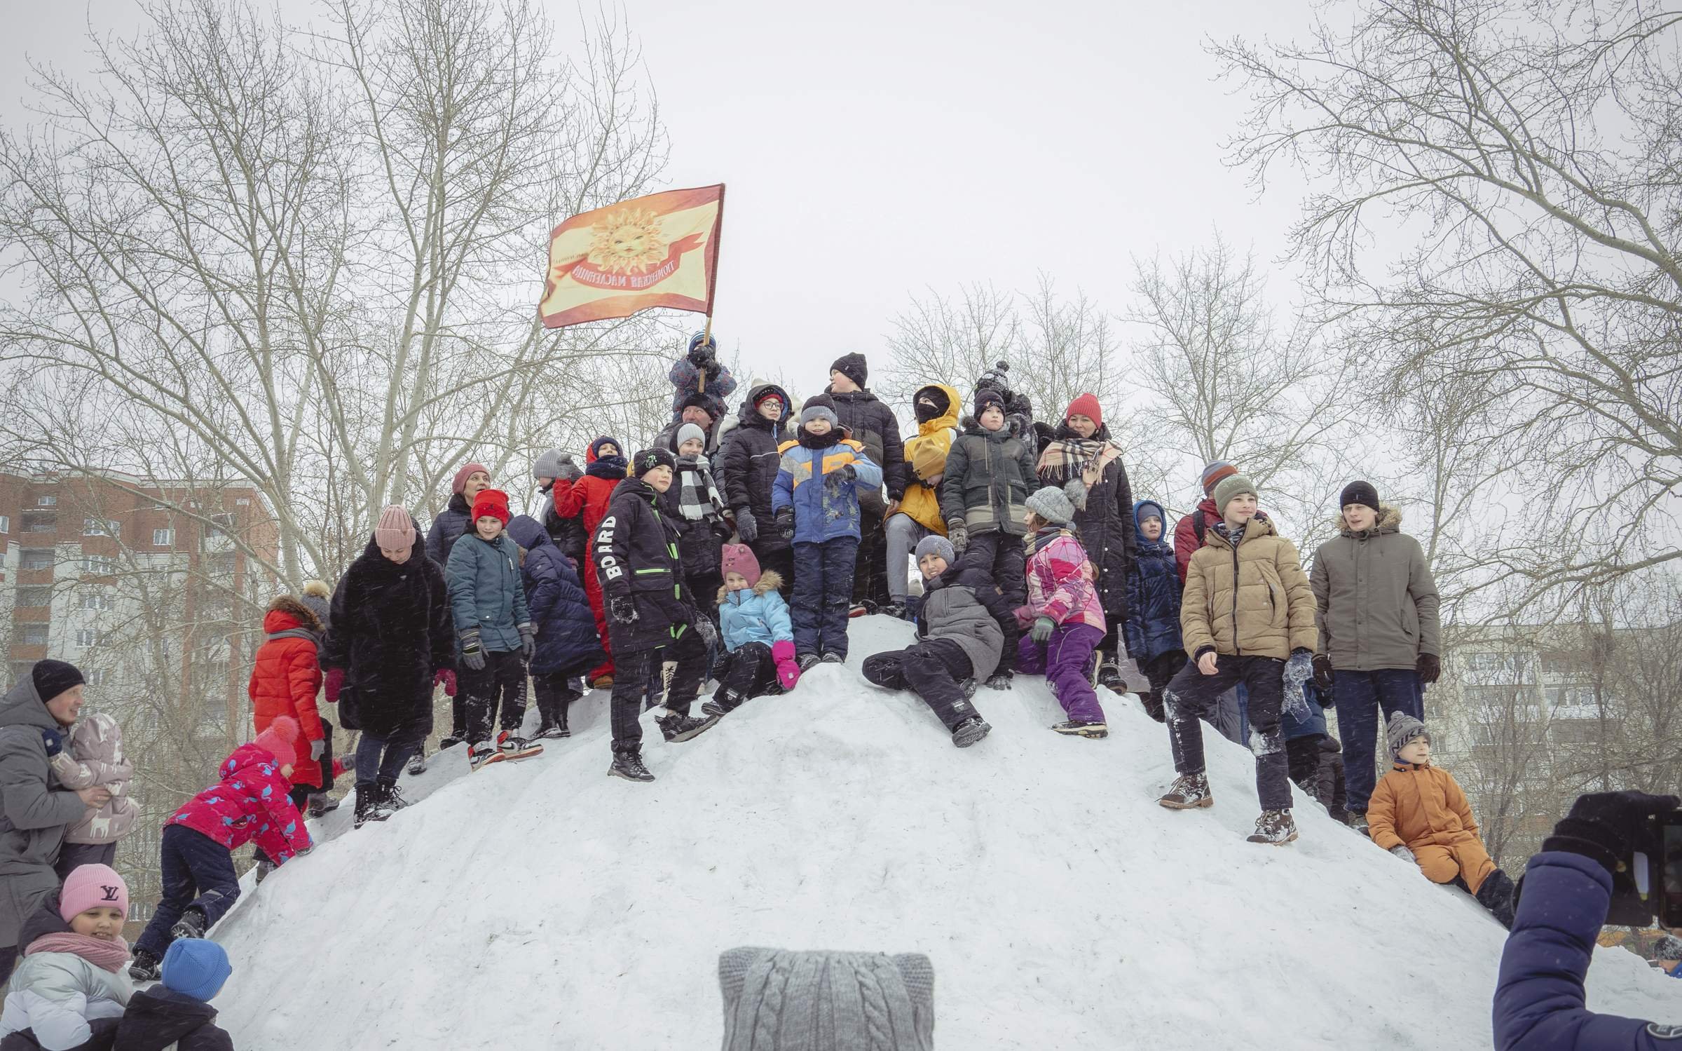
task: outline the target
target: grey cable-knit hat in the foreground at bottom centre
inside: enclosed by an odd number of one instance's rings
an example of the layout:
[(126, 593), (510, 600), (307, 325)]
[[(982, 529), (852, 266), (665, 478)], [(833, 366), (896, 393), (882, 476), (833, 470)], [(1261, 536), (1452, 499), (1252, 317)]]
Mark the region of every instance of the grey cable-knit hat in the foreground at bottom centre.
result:
[(718, 953), (723, 1051), (934, 1051), (923, 953), (730, 948)]

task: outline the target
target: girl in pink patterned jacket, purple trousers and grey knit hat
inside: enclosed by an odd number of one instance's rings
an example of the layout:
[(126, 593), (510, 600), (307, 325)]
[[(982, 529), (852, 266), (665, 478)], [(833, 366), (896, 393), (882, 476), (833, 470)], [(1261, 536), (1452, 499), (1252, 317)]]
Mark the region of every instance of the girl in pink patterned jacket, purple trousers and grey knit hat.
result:
[(1028, 605), (1016, 610), (1026, 629), (1016, 647), (1016, 671), (1045, 673), (1068, 720), (1051, 726), (1073, 737), (1108, 737), (1098, 693), (1088, 676), (1092, 652), (1103, 641), (1103, 607), (1087, 548), (1068, 528), (1075, 504), (1046, 486), (1028, 498)]

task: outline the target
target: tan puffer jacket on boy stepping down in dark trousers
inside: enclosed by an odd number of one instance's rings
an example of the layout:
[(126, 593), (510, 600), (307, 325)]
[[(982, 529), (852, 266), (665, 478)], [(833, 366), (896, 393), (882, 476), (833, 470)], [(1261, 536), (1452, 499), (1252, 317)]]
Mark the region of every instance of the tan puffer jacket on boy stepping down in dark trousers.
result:
[(1186, 652), (1216, 652), (1285, 661), (1290, 651), (1314, 649), (1314, 592), (1297, 547), (1256, 515), (1238, 550), (1219, 530), (1203, 533), (1203, 547), (1186, 568), (1179, 604)]

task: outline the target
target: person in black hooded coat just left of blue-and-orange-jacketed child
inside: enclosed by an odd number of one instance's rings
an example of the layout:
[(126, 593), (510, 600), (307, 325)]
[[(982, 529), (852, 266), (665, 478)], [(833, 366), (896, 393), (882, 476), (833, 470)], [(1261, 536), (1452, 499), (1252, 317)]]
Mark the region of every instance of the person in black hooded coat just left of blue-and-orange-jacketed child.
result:
[(718, 454), (718, 484), (725, 506), (735, 518), (737, 535), (754, 550), (760, 570), (782, 577), (784, 599), (789, 599), (794, 587), (794, 547), (774, 523), (770, 486), (777, 481), (777, 466), (782, 462), (780, 447), (794, 441), (785, 425), (792, 407), (794, 402), (782, 387), (754, 387)]

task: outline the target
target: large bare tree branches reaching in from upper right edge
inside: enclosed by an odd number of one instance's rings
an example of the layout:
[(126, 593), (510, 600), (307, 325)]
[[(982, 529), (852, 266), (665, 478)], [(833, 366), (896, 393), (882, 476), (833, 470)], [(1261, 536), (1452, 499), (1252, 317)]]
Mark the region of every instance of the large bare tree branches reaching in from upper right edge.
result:
[(1679, 27), (1645, 2), (1366, 0), (1304, 44), (1211, 47), (1251, 98), (1233, 163), (1317, 178), (1295, 256), (1374, 388), (1494, 409), (1462, 436), (1527, 521), (1482, 538), (1467, 589), (1507, 610), (1682, 557)]

